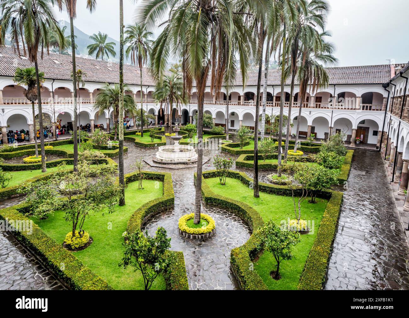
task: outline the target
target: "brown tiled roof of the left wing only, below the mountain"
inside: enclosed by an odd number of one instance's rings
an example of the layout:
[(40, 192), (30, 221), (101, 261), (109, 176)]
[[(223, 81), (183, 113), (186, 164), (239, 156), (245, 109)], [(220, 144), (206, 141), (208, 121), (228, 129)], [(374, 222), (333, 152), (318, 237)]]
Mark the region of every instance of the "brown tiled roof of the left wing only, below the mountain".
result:
[[(46, 53), (43, 60), (38, 59), (38, 68), (45, 73), (46, 78), (56, 80), (71, 80), (72, 58), (70, 55), (57, 53)], [(0, 47), (0, 76), (14, 76), (16, 67), (31, 67), (34, 63), (29, 60), (19, 58), (12, 47)], [(119, 64), (81, 58), (76, 56), (77, 69), (81, 69), (88, 74), (88, 82), (118, 83)], [(124, 65), (124, 82), (128, 85), (140, 85), (139, 68), (133, 65)], [(142, 82), (144, 85), (155, 85), (155, 81), (148, 74), (146, 69), (142, 69)]]

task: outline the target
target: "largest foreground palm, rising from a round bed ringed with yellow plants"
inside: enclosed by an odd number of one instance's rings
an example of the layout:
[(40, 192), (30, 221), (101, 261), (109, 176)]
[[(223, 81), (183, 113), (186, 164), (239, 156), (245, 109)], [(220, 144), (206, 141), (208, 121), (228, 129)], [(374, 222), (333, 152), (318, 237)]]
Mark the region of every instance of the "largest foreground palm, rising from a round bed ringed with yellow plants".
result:
[[(170, 12), (169, 12), (170, 8)], [(267, 10), (267, 8), (264, 8)], [(193, 85), (198, 92), (198, 163), (196, 174), (195, 217), (200, 222), (203, 158), (203, 99), (210, 72), (212, 94), (218, 94), (221, 86), (236, 73), (233, 57), (234, 38), (239, 49), (243, 84), (247, 79), (248, 49), (250, 35), (243, 19), (243, 9), (232, 0), (210, 2), (201, 0), (146, 0), (136, 11), (138, 24), (153, 29), (157, 18), (169, 18), (164, 30), (155, 40), (151, 54), (151, 69), (156, 78), (162, 78), (170, 56), (182, 59), (183, 79), (186, 91)], [(226, 80), (227, 79), (227, 80)]]

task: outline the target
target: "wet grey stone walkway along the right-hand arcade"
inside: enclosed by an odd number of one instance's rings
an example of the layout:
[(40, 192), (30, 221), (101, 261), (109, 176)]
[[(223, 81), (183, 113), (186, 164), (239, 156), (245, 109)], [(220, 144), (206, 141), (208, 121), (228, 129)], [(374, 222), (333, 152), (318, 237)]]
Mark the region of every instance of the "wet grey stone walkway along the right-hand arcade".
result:
[(380, 153), (355, 150), (325, 289), (409, 289), (408, 243)]

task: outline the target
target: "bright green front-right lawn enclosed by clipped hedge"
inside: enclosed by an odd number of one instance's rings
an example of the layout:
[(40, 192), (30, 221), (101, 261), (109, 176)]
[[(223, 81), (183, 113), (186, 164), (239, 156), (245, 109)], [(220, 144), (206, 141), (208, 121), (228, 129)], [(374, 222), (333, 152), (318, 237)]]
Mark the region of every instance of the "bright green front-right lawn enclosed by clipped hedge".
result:
[[(276, 196), (260, 192), (260, 198), (254, 198), (253, 190), (243, 185), (239, 180), (227, 178), (225, 186), (220, 185), (219, 178), (205, 180), (213, 192), (245, 202), (256, 209), (265, 222), (273, 220), (277, 225), (280, 225), (281, 220), (287, 220), (289, 217), (295, 219), (294, 205), (291, 197)], [(316, 204), (308, 203), (308, 199), (303, 201), (301, 205), (301, 218), (303, 220), (314, 220), (313, 234), (302, 235), (301, 242), (294, 247), (295, 257), (292, 260), (281, 262), (280, 280), (276, 281), (270, 276), (270, 272), (276, 269), (277, 264), (272, 254), (265, 251), (263, 255), (255, 261), (255, 270), (269, 289), (297, 289), (301, 273), (317, 236), (327, 203), (327, 200), (319, 198), (317, 198)]]

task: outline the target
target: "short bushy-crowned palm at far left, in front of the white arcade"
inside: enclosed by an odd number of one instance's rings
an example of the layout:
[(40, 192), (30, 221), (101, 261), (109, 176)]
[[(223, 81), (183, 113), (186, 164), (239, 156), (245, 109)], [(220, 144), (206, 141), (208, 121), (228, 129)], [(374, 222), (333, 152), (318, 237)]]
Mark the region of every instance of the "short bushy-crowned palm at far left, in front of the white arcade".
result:
[[(40, 80), (41, 91), (44, 90), (43, 83), (45, 82), (44, 72), (38, 73), (38, 78)], [(33, 132), (34, 132), (34, 144), (36, 147), (36, 157), (38, 157), (38, 145), (36, 138), (36, 110), (34, 108), (34, 102), (38, 98), (37, 94), (37, 80), (36, 80), (36, 69), (35, 67), (27, 67), (26, 69), (20, 69), (18, 67), (14, 73), (13, 81), (17, 85), (25, 85), (27, 88), (24, 89), (24, 96), (31, 102), (31, 109), (33, 111)]]

